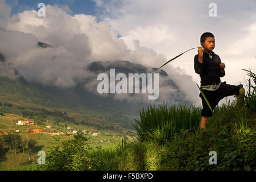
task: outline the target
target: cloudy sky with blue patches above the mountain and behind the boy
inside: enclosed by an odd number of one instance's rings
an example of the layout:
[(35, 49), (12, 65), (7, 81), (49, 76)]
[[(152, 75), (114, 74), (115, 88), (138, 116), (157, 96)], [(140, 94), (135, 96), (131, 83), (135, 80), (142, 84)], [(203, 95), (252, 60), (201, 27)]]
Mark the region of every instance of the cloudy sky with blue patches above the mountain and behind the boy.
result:
[[(37, 16), (39, 2), (46, 5), (46, 17)], [(211, 3), (215, 3), (216, 16), (209, 14), (213, 12)], [(74, 77), (86, 77), (79, 68), (91, 61), (128, 60), (160, 67), (201, 46), (200, 36), (211, 32), (215, 36), (213, 51), (226, 64), (226, 76), (221, 81), (246, 85), (246, 72), (241, 69), (256, 72), (255, 10), (256, 0), (0, 0), (0, 27), (10, 31), (1, 32), (0, 50), (27, 80), (74, 86)], [(55, 48), (39, 51), (37, 41)], [(6, 42), (12, 49), (6, 48)], [(191, 102), (201, 105), (195, 84), (200, 83), (194, 71), (196, 54), (197, 49), (193, 49), (162, 69)], [(57, 59), (46, 61), (55, 55)], [(168, 93), (175, 97), (175, 90), (163, 82), (160, 94), (170, 100)]]

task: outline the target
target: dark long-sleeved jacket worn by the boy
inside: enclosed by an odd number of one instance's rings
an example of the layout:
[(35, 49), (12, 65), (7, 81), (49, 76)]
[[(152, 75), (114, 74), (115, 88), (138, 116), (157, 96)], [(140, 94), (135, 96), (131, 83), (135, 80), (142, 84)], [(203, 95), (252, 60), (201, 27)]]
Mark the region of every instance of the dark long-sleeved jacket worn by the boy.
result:
[(203, 63), (199, 63), (198, 54), (194, 57), (194, 69), (201, 77), (201, 86), (218, 84), (221, 82), (219, 77), (225, 76), (225, 72), (222, 75), (221, 67), (219, 67), (221, 59), (213, 51), (211, 51), (211, 55), (212, 59), (208, 53), (203, 51)]

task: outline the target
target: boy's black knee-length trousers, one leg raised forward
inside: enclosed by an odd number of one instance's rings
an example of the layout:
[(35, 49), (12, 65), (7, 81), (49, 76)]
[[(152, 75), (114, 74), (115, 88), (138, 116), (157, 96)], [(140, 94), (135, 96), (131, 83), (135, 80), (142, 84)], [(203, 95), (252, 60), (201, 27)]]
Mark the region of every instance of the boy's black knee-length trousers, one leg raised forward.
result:
[[(202, 90), (203, 94), (205, 94), (205, 97), (207, 98), (207, 101), (209, 102), (211, 109), (214, 109), (220, 100), (222, 98), (225, 98), (227, 96), (238, 96), (239, 90), (243, 87), (243, 85), (229, 85), (225, 82), (222, 82), (222, 84), (219, 86), (219, 88), (215, 91), (210, 90)], [(203, 109), (201, 112), (201, 115), (203, 117), (211, 117), (213, 113), (210, 110), (210, 107), (207, 105), (205, 99), (202, 96), (202, 93), (200, 92), (199, 97), (202, 99), (202, 105)]]

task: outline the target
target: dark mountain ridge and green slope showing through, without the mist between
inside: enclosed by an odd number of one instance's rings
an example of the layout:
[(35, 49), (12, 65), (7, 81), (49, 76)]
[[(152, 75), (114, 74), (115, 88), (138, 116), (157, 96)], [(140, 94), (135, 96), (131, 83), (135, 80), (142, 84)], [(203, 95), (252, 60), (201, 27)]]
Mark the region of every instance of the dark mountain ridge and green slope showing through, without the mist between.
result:
[[(49, 44), (38, 42), (38, 47), (52, 47)], [(1, 51), (1, 50), (0, 50)], [(158, 68), (148, 68), (141, 64), (130, 63), (129, 61), (95, 61), (87, 65), (85, 71), (95, 74), (110, 71), (115, 68), (115, 73), (159, 73), (167, 77), (167, 73)], [(28, 82), (19, 74), (17, 69), (7, 63), (5, 56), (0, 53), (0, 102), (11, 101), (17, 105), (24, 103), (35, 104), (58, 109), (69, 109), (83, 114), (95, 113), (95, 117), (104, 118), (107, 121), (119, 123), (123, 127), (131, 128), (130, 123), (138, 116), (139, 110), (146, 107), (146, 102), (130, 102), (127, 100), (114, 100), (109, 94), (108, 97), (101, 97), (98, 94), (87, 91), (84, 86), (90, 80), (77, 80), (74, 88), (58, 88), (57, 86), (42, 85)], [(175, 101), (189, 102), (182, 100), (185, 95), (170, 78), (167, 84), (177, 90)]]

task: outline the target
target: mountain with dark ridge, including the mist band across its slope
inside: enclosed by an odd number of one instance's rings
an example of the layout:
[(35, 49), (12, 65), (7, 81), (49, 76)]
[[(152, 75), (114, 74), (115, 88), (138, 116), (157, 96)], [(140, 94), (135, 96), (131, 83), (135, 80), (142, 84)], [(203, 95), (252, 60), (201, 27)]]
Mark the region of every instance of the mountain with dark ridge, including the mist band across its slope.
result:
[[(51, 48), (45, 43), (38, 43), (40, 48)], [(75, 86), (63, 88), (54, 84), (42, 84), (36, 81), (27, 81), (12, 63), (6, 61), (5, 56), (0, 55), (2, 65), (0, 69), (1, 96), (6, 100), (25, 101), (47, 107), (67, 108), (79, 110), (95, 110), (109, 121), (116, 123), (133, 123), (133, 118), (138, 116), (139, 110), (149, 104), (161, 104), (169, 97), (169, 104), (186, 104), (185, 93), (175, 84), (167, 73), (158, 68), (146, 67), (129, 61), (95, 61), (83, 67), (85, 73), (90, 73), (83, 79), (74, 79)], [(97, 92), (97, 80), (99, 73), (109, 75), (110, 69), (115, 69), (116, 74), (124, 73), (159, 73), (159, 98), (148, 100), (147, 94), (99, 94)], [(110, 76), (110, 75), (109, 75)], [(141, 82), (140, 82), (141, 84)], [(169, 92), (170, 90), (175, 92)], [(162, 90), (169, 95), (161, 94)]]

